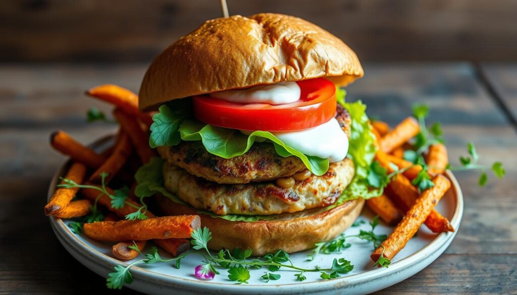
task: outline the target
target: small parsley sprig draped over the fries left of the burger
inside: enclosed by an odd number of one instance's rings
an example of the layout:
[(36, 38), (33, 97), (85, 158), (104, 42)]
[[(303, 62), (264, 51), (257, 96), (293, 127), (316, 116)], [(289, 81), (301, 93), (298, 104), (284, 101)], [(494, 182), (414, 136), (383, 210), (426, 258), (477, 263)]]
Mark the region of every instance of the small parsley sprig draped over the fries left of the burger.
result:
[[(114, 190), (113, 194), (110, 194), (110, 192), (106, 188), (105, 179), (108, 177), (108, 173), (102, 172), (100, 174), (101, 176), (101, 187), (97, 187), (96, 185), (89, 185), (89, 184), (79, 184), (71, 179), (66, 178), (60, 178), (64, 183), (58, 184), (58, 188), (80, 188), (80, 189), (93, 189), (101, 192), (97, 199), (95, 200), (95, 208), (97, 208), (97, 200), (101, 195), (107, 195), (111, 199), (111, 207), (114, 209), (120, 209), (124, 207), (125, 205), (133, 207), (136, 209), (135, 212), (129, 213), (126, 215), (127, 220), (144, 220), (147, 219), (147, 215), (145, 213), (147, 212), (147, 205), (143, 201), (143, 197), (140, 198), (142, 206), (136, 206), (132, 203), (129, 203), (127, 201), (128, 195), (129, 195), (129, 188), (123, 187), (118, 190)], [(97, 210), (95, 210), (97, 211)]]

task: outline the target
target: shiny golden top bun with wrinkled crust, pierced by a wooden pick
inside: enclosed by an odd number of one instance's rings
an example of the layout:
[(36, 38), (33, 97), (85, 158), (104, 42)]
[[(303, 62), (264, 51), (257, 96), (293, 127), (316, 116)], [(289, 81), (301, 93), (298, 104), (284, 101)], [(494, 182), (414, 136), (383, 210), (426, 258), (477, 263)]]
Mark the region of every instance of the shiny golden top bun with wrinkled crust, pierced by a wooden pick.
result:
[(346, 85), (363, 75), (343, 41), (284, 14), (206, 21), (165, 49), (147, 70), (140, 108), (219, 90), (326, 76)]

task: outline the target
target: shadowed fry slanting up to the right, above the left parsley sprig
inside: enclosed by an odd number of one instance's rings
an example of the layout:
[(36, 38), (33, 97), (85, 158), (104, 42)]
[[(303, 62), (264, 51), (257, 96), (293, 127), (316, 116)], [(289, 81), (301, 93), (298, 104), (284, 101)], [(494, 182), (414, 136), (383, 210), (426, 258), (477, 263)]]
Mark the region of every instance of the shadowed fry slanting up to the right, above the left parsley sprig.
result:
[(105, 179), (105, 182), (108, 183), (126, 163), (132, 150), (131, 139), (126, 132), (123, 132), (111, 156), (92, 174), (89, 181), (100, 183), (101, 173), (105, 172), (108, 173), (108, 177)]

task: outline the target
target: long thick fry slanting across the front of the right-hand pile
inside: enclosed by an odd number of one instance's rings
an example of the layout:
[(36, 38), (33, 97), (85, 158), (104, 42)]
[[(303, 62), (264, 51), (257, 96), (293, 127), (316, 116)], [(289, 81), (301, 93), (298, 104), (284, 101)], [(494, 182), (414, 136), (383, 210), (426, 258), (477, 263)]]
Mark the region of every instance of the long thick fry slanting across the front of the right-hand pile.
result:
[(409, 208), (389, 237), (370, 255), (373, 261), (377, 261), (381, 257), (381, 253), (384, 253), (384, 257), (393, 259), (407, 244), (407, 241), (413, 238), (420, 225), (451, 185), (450, 181), (443, 175), (433, 178), (433, 183), (434, 187), (422, 193), (422, 196)]

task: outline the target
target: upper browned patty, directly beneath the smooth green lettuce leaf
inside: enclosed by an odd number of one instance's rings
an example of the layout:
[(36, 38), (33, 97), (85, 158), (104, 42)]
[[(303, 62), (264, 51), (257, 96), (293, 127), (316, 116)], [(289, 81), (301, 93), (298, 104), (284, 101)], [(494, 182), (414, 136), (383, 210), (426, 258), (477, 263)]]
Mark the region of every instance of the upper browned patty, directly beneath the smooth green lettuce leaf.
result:
[[(350, 137), (351, 118), (340, 104), (336, 119)], [(291, 176), (305, 169), (303, 162), (294, 156), (281, 157), (271, 143), (254, 143), (242, 156), (224, 159), (209, 153), (199, 141), (182, 141), (172, 147), (158, 147), (160, 155), (172, 165), (190, 174), (217, 183), (249, 183)]]

